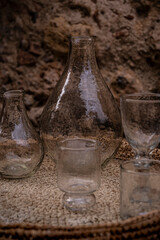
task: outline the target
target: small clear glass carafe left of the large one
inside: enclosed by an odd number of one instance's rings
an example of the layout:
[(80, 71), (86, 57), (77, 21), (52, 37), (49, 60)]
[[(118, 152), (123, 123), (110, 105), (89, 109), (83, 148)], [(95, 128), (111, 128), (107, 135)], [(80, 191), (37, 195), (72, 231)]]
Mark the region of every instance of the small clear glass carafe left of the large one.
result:
[(23, 178), (33, 175), (43, 160), (43, 146), (24, 106), (24, 92), (3, 95), (0, 119), (0, 175)]

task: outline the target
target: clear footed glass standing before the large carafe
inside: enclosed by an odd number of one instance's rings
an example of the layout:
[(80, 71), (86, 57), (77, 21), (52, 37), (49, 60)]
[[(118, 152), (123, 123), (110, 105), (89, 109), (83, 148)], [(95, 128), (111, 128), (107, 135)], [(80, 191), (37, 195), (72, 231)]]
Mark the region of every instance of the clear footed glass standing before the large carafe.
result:
[(72, 211), (92, 207), (100, 186), (100, 154), (96, 141), (68, 139), (59, 142), (58, 187), (65, 192), (64, 206)]

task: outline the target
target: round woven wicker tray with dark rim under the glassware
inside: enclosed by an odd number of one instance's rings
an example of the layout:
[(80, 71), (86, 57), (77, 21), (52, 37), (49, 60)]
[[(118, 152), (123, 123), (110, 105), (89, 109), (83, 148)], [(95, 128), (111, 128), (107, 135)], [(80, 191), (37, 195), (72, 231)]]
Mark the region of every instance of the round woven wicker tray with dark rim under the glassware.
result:
[[(0, 179), (0, 239), (160, 239), (160, 211), (120, 219), (119, 164), (132, 155), (123, 141), (115, 159), (102, 169), (97, 204), (83, 213), (63, 207), (56, 166), (47, 157), (31, 178)], [(160, 159), (158, 149), (153, 157)]]

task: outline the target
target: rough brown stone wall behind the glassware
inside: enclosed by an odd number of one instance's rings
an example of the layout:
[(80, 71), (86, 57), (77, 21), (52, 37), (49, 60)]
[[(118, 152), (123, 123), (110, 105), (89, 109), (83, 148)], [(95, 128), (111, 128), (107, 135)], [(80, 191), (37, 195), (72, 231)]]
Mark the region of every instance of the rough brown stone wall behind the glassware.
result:
[(0, 0), (0, 92), (24, 89), (35, 126), (71, 35), (96, 36), (113, 95), (160, 92), (159, 0)]

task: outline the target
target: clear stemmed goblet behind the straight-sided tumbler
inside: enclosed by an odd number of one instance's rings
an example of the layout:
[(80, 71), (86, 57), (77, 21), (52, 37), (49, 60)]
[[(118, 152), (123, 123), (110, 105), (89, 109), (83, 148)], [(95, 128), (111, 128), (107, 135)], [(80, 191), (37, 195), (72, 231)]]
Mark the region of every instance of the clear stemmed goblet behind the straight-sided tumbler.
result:
[(160, 142), (160, 94), (128, 94), (120, 100), (125, 137), (135, 158), (149, 158)]

